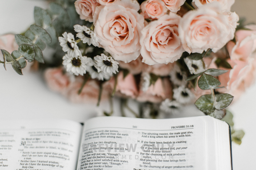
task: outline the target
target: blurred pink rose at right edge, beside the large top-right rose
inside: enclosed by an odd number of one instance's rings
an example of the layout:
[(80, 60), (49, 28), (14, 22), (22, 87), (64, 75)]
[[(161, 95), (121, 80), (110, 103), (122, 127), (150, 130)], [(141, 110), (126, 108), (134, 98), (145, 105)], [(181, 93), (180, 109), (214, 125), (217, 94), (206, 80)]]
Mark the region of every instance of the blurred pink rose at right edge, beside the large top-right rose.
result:
[(256, 25), (247, 26), (250, 30), (238, 30), (235, 33), (236, 44), (229, 41), (227, 49), (231, 60), (248, 61), (256, 50)]

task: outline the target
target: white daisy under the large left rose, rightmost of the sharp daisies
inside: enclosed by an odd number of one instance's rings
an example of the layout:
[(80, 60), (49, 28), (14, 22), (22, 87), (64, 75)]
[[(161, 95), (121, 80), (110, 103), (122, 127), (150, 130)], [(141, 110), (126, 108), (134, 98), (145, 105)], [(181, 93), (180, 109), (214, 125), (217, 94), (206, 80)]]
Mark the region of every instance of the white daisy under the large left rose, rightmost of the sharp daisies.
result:
[(105, 54), (97, 55), (94, 57), (95, 63), (100, 67), (101, 71), (107, 74), (116, 74), (118, 72), (118, 62), (116, 62), (111, 56), (106, 56)]

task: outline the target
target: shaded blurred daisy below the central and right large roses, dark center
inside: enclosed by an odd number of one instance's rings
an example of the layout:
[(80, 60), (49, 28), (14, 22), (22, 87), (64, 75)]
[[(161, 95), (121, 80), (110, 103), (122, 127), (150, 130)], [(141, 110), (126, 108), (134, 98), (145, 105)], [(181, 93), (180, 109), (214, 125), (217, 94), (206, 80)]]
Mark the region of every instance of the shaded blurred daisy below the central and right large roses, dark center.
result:
[(170, 80), (174, 85), (185, 85), (187, 83), (186, 81), (186, 75), (185, 72), (182, 72), (180, 70), (180, 67), (175, 65), (174, 69), (170, 72)]

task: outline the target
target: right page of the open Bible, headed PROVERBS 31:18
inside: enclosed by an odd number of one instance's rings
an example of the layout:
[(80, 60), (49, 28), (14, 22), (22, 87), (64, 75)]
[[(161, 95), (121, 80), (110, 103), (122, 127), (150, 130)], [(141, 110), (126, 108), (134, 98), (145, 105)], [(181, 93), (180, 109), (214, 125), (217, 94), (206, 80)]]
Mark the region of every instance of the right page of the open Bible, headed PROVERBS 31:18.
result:
[(85, 122), (77, 170), (205, 170), (202, 117), (93, 118)]

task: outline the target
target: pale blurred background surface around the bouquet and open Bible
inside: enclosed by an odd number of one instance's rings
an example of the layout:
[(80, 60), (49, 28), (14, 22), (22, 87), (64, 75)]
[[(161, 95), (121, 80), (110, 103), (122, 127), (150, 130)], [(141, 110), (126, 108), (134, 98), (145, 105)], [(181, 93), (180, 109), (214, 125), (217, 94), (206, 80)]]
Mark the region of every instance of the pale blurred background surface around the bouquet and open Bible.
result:
[[(44, 0), (0, 0), (0, 34), (21, 33), (26, 30), (33, 24), (34, 6), (47, 8)], [(249, 21), (256, 22), (255, 6), (255, 0), (237, 0), (233, 10), (240, 16), (248, 17)], [(232, 143), (234, 170), (255, 169), (254, 96), (256, 84), (247, 89), (246, 93), (229, 107), (234, 115), (235, 129), (243, 129), (246, 133), (240, 146)], [(115, 105), (118, 107), (117, 101)], [(65, 118), (85, 121), (95, 114), (95, 106), (71, 104), (60, 94), (50, 91), (40, 73), (24, 70), (24, 76), (19, 76), (11, 66), (7, 67), (6, 72), (0, 64), (0, 119)]]

